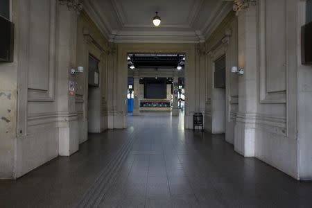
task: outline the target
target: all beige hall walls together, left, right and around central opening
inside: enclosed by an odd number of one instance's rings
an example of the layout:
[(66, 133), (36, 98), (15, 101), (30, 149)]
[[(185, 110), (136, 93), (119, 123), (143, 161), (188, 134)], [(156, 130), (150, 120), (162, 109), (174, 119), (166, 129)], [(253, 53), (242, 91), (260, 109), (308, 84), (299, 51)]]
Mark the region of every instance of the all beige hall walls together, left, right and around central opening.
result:
[[(185, 53), (185, 128), (193, 128), (194, 112), (205, 112), (205, 129), (218, 132), (214, 61), (225, 55), (226, 140), (245, 157), (311, 179), (312, 69), (300, 64), (304, 6), (260, 0), (237, 17), (230, 12), (205, 44), (113, 44), (85, 12), (78, 16), (56, 0), (12, 0), (15, 58), (0, 63), (0, 178), (69, 156), (87, 140), (89, 53), (100, 60), (98, 132), (127, 128), (127, 53)], [(85, 72), (72, 76), (78, 66)], [(232, 66), (245, 74), (230, 73)]]

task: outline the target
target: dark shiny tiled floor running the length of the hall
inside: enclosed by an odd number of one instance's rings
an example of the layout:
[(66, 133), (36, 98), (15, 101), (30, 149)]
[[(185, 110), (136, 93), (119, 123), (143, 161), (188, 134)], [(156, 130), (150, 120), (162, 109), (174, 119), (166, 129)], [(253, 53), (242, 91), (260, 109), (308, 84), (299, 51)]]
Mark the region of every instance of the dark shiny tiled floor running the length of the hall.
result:
[(75, 155), (0, 181), (0, 207), (312, 207), (311, 182), (183, 125), (167, 113), (129, 116), (128, 130), (90, 135)]

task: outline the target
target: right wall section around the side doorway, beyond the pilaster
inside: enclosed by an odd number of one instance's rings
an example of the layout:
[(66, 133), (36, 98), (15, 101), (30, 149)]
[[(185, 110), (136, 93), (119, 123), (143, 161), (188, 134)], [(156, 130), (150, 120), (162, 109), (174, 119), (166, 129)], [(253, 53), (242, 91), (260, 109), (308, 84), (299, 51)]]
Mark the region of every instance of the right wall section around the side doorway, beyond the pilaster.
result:
[[(239, 77), (230, 73), (230, 69), (237, 65), (237, 50), (237, 18), (234, 12), (230, 12), (206, 41), (205, 129), (222, 133), (222, 126), (220, 128), (216, 123), (225, 123), (225, 139), (231, 144), (234, 144), (234, 125), (239, 106)], [(214, 89), (214, 62), (223, 55), (226, 61), (225, 103), (218, 96), (219, 89)], [(222, 113), (224, 107), (225, 116)]]

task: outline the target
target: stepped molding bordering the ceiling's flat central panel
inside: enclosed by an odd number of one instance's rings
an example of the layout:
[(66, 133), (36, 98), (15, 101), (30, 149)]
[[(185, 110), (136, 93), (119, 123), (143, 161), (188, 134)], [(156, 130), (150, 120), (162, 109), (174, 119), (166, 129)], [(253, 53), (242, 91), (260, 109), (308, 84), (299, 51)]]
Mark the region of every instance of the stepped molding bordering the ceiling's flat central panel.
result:
[[(158, 30), (153, 28), (153, 24), (128, 24), (123, 6), (118, 0), (110, 0), (110, 6), (116, 15), (116, 24), (112, 28), (112, 21), (109, 21), (105, 12), (101, 12), (101, 6), (97, 1), (85, 1), (84, 10), (94, 21), (109, 42), (127, 43), (199, 43), (205, 42), (207, 37), (216, 29), (218, 24), (223, 21), (226, 15), (232, 11), (232, 2), (218, 1), (216, 7), (209, 15), (207, 21), (201, 28), (193, 28), (196, 19), (204, 18), (200, 14), (200, 9), (206, 0), (194, 0), (189, 11), (188, 22), (177, 25), (161, 25)], [(202, 16), (200, 16), (202, 15)], [(142, 29), (140, 29), (142, 28)], [(144, 29), (143, 29), (144, 28)], [(150, 28), (150, 30), (147, 30)], [(163, 30), (162, 30), (163, 28)], [(165, 28), (172, 28), (166, 31)], [(135, 31), (130, 31), (130, 29)]]

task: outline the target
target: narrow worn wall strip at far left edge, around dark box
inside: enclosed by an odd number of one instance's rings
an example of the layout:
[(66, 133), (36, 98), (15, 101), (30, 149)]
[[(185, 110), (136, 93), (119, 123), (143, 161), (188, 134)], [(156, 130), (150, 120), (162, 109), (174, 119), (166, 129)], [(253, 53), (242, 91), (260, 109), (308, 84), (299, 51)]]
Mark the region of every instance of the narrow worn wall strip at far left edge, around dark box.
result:
[(17, 67), (19, 7), (17, 1), (12, 5), (12, 21), (15, 23), (14, 62), (0, 63), (0, 179), (14, 177), (15, 144), (17, 132)]

